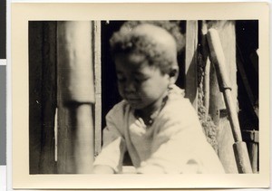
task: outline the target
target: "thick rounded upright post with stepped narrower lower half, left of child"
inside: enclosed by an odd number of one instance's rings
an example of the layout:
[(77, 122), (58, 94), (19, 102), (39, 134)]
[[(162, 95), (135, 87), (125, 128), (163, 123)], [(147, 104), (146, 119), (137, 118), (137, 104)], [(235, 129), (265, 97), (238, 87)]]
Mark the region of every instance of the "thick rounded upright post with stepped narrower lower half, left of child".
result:
[(58, 170), (91, 173), (94, 103), (91, 22), (58, 22)]

